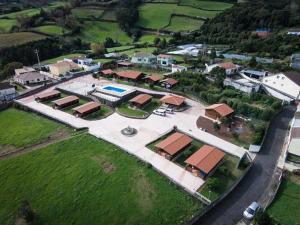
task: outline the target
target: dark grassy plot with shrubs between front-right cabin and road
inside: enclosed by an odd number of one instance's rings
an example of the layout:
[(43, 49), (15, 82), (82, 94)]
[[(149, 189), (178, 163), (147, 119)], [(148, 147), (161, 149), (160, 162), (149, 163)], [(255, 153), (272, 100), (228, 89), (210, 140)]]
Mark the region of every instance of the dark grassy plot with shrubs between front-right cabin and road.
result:
[[(211, 201), (215, 201), (224, 192), (226, 192), (234, 182), (243, 175), (244, 169), (237, 168), (239, 159), (235, 156), (226, 154), (221, 165), (218, 166), (216, 171), (207, 178), (205, 184), (198, 190), (202, 195)], [(224, 173), (224, 171), (226, 172)], [(217, 190), (209, 186), (209, 182), (216, 179), (219, 182)]]

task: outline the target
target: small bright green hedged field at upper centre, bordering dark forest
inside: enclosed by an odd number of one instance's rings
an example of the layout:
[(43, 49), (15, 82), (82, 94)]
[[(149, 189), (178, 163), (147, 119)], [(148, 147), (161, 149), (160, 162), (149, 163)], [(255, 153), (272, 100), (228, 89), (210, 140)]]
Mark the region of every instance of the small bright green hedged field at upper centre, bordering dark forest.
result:
[(203, 21), (192, 19), (188, 17), (181, 17), (181, 16), (173, 16), (171, 19), (171, 23), (169, 26), (165, 28), (165, 30), (169, 31), (193, 31), (199, 30), (202, 26)]

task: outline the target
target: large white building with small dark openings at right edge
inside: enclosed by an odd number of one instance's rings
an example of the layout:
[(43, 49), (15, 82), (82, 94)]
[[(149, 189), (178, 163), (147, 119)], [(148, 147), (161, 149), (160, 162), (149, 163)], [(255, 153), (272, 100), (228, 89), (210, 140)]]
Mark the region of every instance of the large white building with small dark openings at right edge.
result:
[(299, 100), (300, 73), (285, 72), (262, 79), (264, 89), (275, 98), (283, 101)]

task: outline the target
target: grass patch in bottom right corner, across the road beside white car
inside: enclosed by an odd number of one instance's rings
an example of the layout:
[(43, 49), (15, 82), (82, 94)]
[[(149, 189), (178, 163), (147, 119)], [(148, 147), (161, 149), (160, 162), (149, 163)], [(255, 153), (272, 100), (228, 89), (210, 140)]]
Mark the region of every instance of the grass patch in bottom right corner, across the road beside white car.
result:
[[(293, 175), (296, 178), (296, 175)], [(298, 182), (293, 177), (284, 179), (271, 206), (267, 209), (269, 215), (282, 225), (300, 224), (300, 178)]]

